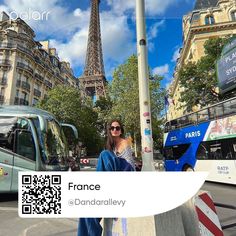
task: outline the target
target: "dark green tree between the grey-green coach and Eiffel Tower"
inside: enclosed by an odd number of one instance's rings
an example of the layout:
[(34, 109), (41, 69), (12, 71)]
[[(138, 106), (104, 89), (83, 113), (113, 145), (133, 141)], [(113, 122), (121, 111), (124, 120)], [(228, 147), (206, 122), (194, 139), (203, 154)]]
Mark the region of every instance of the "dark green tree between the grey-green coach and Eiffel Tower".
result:
[(76, 126), (79, 139), (92, 153), (98, 153), (102, 140), (97, 130), (97, 113), (91, 102), (81, 100), (80, 91), (67, 86), (56, 86), (49, 91), (46, 99), (37, 104), (37, 107), (55, 115), (62, 123)]

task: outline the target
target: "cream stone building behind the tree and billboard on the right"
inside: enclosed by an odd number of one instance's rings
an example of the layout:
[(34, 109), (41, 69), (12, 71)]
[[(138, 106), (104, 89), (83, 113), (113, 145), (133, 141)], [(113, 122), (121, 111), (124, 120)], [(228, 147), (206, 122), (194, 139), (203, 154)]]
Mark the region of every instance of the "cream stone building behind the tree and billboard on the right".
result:
[[(169, 106), (168, 120), (186, 113), (184, 104), (179, 102), (181, 91), (184, 91), (184, 88), (179, 85), (180, 68), (188, 62), (196, 62), (204, 56), (204, 43), (208, 39), (236, 34), (236, 1), (197, 0), (193, 11), (183, 17), (182, 28), (183, 47), (180, 49), (174, 80), (169, 88), (169, 94), (174, 103)], [(183, 107), (180, 108), (181, 106)]]

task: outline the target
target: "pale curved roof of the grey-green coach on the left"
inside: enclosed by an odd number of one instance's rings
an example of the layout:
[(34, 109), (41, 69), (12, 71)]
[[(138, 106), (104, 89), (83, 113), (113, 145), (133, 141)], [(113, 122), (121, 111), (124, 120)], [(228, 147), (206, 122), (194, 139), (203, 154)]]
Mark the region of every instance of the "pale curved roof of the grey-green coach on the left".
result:
[(9, 114), (9, 115), (41, 115), (45, 118), (54, 118), (55, 117), (44, 110), (39, 108), (30, 107), (30, 106), (0, 106), (0, 115), (1, 114)]

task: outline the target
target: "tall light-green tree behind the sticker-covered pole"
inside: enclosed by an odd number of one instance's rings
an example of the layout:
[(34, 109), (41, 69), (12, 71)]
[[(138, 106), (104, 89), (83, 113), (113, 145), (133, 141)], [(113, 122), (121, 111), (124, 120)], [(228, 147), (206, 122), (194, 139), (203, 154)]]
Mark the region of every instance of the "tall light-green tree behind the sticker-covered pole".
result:
[[(160, 89), (161, 77), (150, 74), (150, 95), (152, 122), (158, 124), (153, 126), (153, 137), (160, 134), (159, 114), (164, 108), (164, 91)], [(112, 101), (112, 109), (109, 118), (119, 118), (128, 132), (134, 139), (140, 140), (140, 113), (139, 113), (139, 88), (138, 88), (138, 59), (137, 56), (130, 56), (127, 61), (118, 66), (113, 74), (113, 80), (109, 87), (109, 96)], [(154, 146), (158, 146), (154, 139)]]

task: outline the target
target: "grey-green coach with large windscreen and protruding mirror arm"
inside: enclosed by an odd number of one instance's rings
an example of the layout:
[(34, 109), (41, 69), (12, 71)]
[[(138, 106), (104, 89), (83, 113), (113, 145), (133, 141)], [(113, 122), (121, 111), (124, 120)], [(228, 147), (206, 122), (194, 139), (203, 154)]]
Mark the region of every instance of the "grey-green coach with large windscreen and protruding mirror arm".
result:
[(52, 114), (29, 106), (0, 107), (0, 192), (17, 192), (19, 171), (68, 170), (68, 157), (62, 125)]

